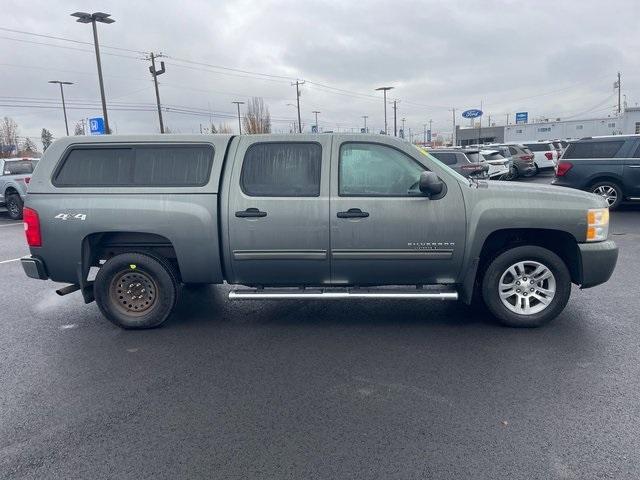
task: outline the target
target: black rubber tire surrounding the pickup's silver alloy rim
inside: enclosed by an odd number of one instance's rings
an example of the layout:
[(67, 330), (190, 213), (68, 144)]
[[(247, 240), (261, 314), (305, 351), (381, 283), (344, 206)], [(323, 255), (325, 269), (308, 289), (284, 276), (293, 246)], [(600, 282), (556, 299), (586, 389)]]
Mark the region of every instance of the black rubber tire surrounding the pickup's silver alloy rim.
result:
[[(512, 308), (517, 310), (519, 309), (519, 306), (515, 306), (515, 304), (519, 304), (518, 299), (521, 299), (522, 295), (525, 297), (527, 295), (532, 295), (531, 297), (528, 297), (528, 300), (522, 300), (528, 302), (527, 305), (531, 302), (535, 302), (536, 305), (533, 305), (531, 308), (536, 308), (538, 304), (541, 305), (542, 310), (539, 312), (528, 314), (516, 313), (508, 308), (500, 298), (499, 285), (501, 278), (503, 278), (503, 275), (508, 275), (507, 270), (509, 267), (519, 262), (540, 264), (546, 267), (553, 274), (553, 279), (555, 280), (555, 294), (546, 306), (543, 306), (544, 303), (537, 300), (537, 298), (539, 298), (536, 297), (536, 295), (539, 294), (537, 290), (533, 294), (527, 292), (527, 290), (529, 287), (534, 289), (549, 288), (549, 283), (543, 282), (550, 282), (551, 280), (544, 280), (541, 282), (544, 287), (538, 286), (537, 284), (527, 284), (526, 288), (520, 287), (518, 292), (522, 291), (523, 293), (521, 295), (517, 295), (516, 299), (513, 301), (514, 306)], [(525, 282), (534, 282), (530, 277), (526, 277), (527, 274), (528, 273), (524, 273), (525, 276), (523, 278)], [(509, 277), (507, 276), (506, 278)], [(513, 289), (516, 288), (516, 280), (517, 279), (514, 278)], [(522, 281), (522, 279), (518, 281)], [(516, 294), (514, 293), (514, 295)], [(487, 308), (503, 325), (507, 325), (509, 327), (540, 327), (550, 322), (557, 317), (560, 312), (562, 312), (569, 301), (570, 295), (571, 275), (569, 274), (569, 270), (565, 263), (551, 250), (534, 245), (515, 247), (495, 257), (487, 267), (482, 280), (482, 297)], [(546, 298), (546, 296), (544, 298)], [(511, 299), (513, 299), (513, 297), (510, 297), (510, 300)], [(507, 301), (511, 303), (510, 300)]]

